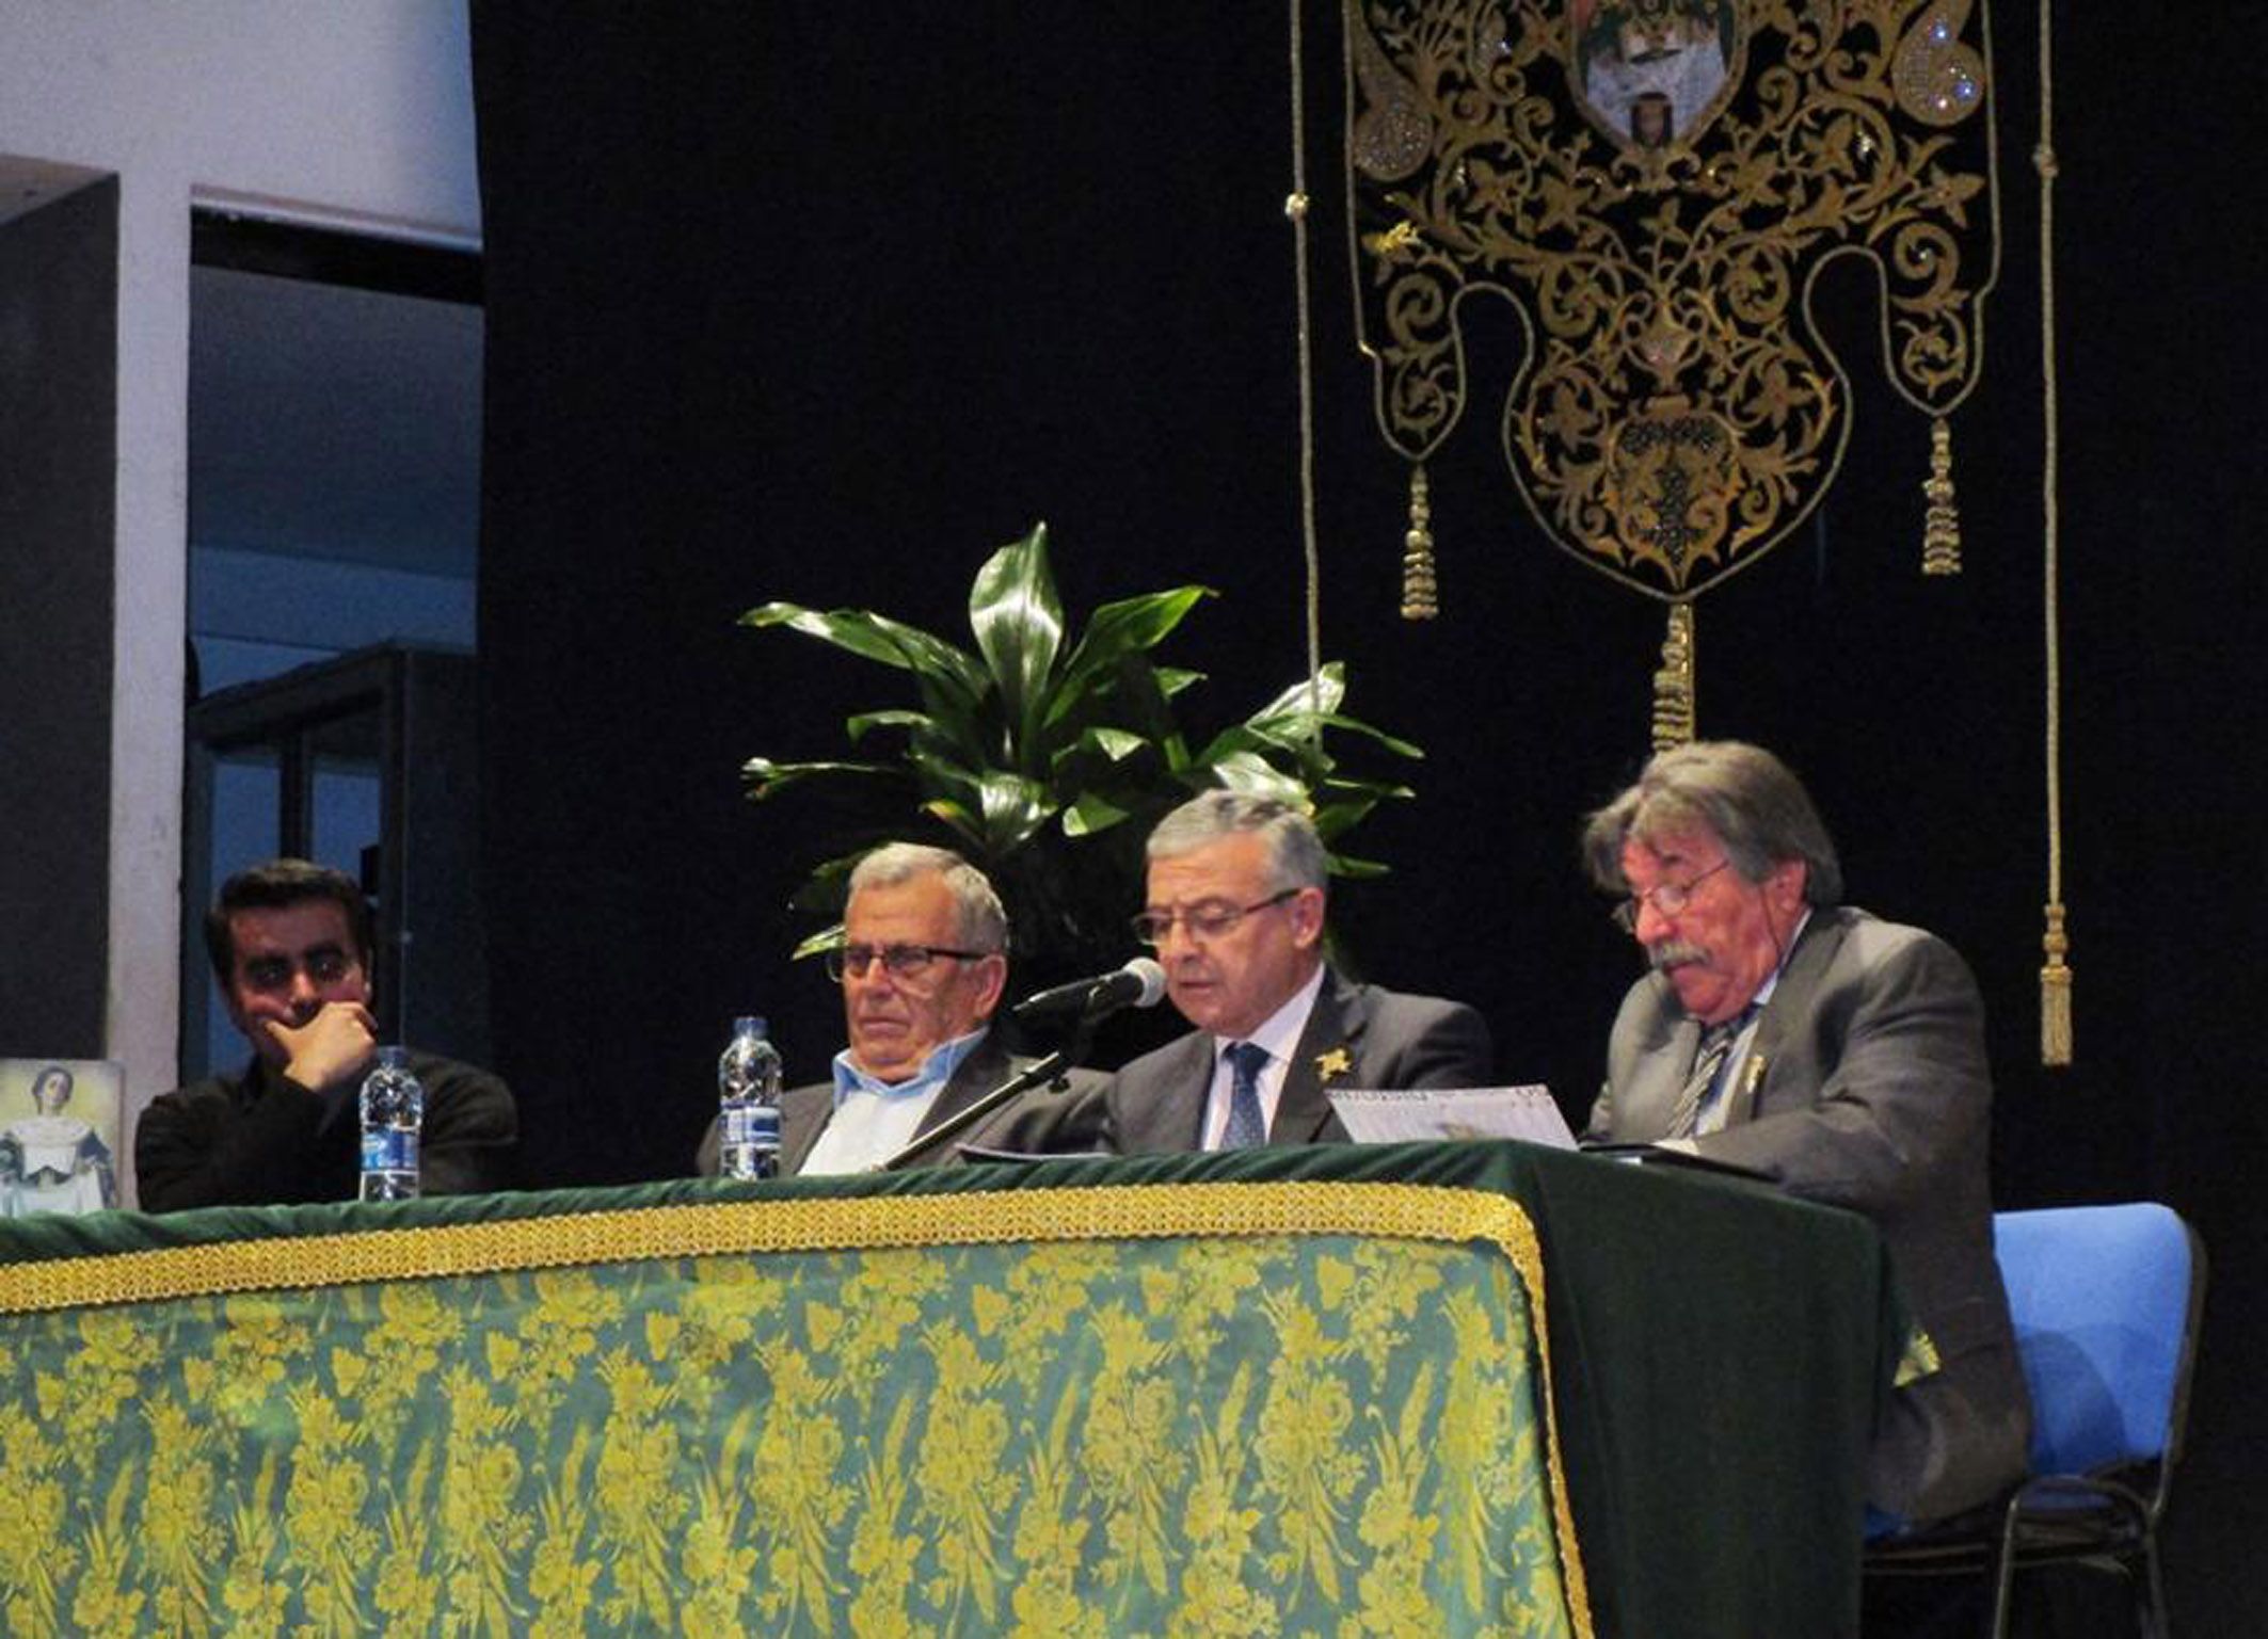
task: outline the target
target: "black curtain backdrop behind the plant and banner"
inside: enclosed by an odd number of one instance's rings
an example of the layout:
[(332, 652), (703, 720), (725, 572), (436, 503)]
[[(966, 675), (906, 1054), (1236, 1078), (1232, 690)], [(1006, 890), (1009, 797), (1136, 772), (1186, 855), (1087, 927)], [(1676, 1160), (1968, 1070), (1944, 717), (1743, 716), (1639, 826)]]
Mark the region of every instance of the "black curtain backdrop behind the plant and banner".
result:
[[(631, 18), (637, 18), (635, 25)], [(1642, 759), (1660, 608), (1547, 546), (1490, 394), (1436, 465), (1442, 619), (1395, 614), (1402, 469), (1370, 424), (1340, 218), (1338, 25), (1309, 2), (1325, 651), (1417, 739), (1420, 800), (1334, 918), (1374, 975), (1479, 1004), (1501, 1072), (1579, 1113), (1633, 957), (1576, 816)], [(1955, 417), (1969, 574), (1923, 580), (1928, 428), (1871, 279), (1821, 288), (1853, 376), (1814, 524), (1701, 601), (1701, 725), (1778, 748), (1851, 898), (1973, 961), (2007, 1206), (2157, 1195), (2216, 1292), (2175, 1530), (2191, 1632), (2259, 1623), (2250, 1190), (2261, 909), (2259, 249), (2241, 54), (2066, 23), (2066, 900), (2080, 1061), (2037, 1065), (2043, 886), (2034, 27), (1998, 14), (2003, 277)], [(481, 653), (499, 1068), (535, 1181), (680, 1172), (730, 1016), (796, 1075), (841, 1020), (785, 898), (814, 802), (753, 753), (837, 755), (894, 678), (735, 617), (873, 605), (962, 635), (987, 551), (1046, 519), (1075, 610), (1222, 596), (1166, 651), (1207, 721), (1304, 664), (1281, 5), (474, 5), (488, 238)], [(2220, 77), (2225, 84), (2211, 84)], [(1483, 331), (1504, 381), (1513, 329)], [(1132, 907), (1129, 907), (1132, 909)], [(1148, 1027), (1141, 1020), (1139, 1027)], [(1105, 1043), (1125, 1050), (1125, 1041)], [(2239, 1614), (2248, 1614), (2243, 1621)], [(2216, 1616), (2220, 1621), (2216, 1621)]]

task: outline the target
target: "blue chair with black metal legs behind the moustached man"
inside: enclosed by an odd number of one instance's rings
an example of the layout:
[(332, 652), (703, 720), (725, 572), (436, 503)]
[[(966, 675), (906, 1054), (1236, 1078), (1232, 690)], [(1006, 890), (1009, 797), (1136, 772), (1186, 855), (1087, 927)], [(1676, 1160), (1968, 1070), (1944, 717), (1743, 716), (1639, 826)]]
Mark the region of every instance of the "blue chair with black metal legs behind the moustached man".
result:
[(2000, 1503), (1867, 1546), (1867, 1576), (1984, 1576), (2007, 1634), (2016, 1573), (2123, 1573), (2139, 1632), (2168, 1639), (2157, 1523), (2182, 1455), (2204, 1245), (2152, 1201), (1994, 1215), (2032, 1390), (2030, 1474)]

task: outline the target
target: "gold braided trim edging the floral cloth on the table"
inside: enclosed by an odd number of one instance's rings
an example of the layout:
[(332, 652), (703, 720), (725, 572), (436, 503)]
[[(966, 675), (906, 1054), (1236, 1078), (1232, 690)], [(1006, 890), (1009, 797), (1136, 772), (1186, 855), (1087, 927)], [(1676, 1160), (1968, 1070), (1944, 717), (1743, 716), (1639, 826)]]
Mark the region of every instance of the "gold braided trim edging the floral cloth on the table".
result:
[(556, 1269), (751, 1251), (1132, 1240), (1170, 1235), (1386, 1235), (1486, 1240), (1529, 1297), (1542, 1362), (1551, 1514), (1576, 1634), (1590, 1639), (1590, 1589), (1560, 1464), (1551, 1390), (1545, 1260), (1526, 1208), (1486, 1190), (1424, 1183), (1145, 1183), (1134, 1188), (955, 1190), (864, 1199), (701, 1201), (565, 1213), (488, 1224), (372, 1229), (345, 1235), (231, 1240), (98, 1258), (0, 1265), (0, 1313), (147, 1303), (215, 1292), (274, 1292), (361, 1281)]

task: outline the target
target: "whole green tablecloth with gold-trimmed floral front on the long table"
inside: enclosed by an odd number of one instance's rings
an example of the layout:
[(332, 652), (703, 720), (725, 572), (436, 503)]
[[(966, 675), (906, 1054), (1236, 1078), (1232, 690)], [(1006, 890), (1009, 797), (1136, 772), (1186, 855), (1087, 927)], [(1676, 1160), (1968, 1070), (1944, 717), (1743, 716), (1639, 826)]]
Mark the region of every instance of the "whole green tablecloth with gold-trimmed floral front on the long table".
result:
[(1896, 1331), (1860, 1220), (1524, 1145), (0, 1258), (9, 1632), (1851, 1632)]

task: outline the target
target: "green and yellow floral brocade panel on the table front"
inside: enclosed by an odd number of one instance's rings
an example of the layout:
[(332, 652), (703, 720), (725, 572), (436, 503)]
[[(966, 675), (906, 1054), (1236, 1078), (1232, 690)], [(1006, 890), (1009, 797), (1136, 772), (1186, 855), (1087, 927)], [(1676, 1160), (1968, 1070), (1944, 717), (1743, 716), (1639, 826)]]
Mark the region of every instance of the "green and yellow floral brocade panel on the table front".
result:
[(0, 1628), (1585, 1634), (1535, 1313), (1365, 1233), (11, 1313)]

